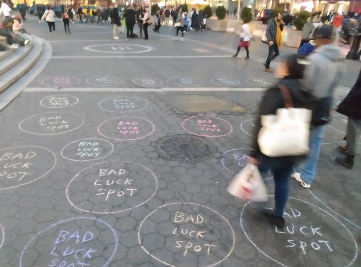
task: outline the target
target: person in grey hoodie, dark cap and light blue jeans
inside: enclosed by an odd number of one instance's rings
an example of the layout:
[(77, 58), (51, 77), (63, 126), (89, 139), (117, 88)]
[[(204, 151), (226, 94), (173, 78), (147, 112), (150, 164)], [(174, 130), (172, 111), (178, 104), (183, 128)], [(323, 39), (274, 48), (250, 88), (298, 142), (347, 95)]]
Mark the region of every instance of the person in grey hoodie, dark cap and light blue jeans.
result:
[[(330, 25), (316, 28), (313, 32), (315, 50), (307, 57), (305, 87), (315, 97), (309, 134), (309, 153), (291, 176), (309, 188), (316, 173), (316, 164), (324, 135), (330, 119), (333, 91), (339, 83), (342, 66), (339, 63), (340, 49), (334, 43), (335, 29)], [(328, 77), (328, 78), (326, 78)]]

